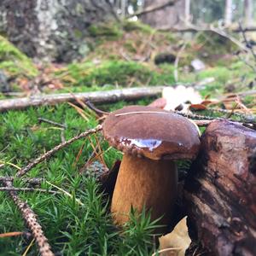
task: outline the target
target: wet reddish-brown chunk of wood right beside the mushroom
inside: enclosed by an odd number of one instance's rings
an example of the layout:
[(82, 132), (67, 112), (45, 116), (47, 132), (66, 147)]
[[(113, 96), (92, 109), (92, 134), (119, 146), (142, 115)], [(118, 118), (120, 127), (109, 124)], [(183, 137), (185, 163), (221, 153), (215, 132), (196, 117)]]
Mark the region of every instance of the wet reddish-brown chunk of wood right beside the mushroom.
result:
[(201, 137), (184, 198), (189, 235), (206, 255), (256, 255), (255, 148), (256, 131), (226, 120)]

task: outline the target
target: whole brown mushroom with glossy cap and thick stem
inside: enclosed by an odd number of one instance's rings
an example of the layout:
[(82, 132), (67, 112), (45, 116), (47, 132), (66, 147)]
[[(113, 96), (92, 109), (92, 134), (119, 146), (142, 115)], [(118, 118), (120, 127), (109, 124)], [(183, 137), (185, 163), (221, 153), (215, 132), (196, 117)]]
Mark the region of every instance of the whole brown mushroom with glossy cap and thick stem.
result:
[(168, 224), (177, 198), (174, 160), (195, 158), (195, 124), (159, 108), (130, 106), (110, 113), (102, 132), (124, 152), (111, 203), (114, 222), (125, 224), (132, 206), (137, 212), (151, 209), (151, 219), (162, 217), (160, 224)]

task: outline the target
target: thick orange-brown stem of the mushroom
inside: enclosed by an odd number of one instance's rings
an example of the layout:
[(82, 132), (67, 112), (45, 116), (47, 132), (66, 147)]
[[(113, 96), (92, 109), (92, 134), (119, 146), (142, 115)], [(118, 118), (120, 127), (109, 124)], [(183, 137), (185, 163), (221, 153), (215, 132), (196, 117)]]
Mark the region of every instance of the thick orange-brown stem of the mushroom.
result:
[(140, 213), (151, 209), (151, 219), (170, 224), (177, 197), (177, 167), (172, 160), (149, 160), (125, 154), (113, 191), (111, 212), (116, 224), (129, 220), (131, 206)]

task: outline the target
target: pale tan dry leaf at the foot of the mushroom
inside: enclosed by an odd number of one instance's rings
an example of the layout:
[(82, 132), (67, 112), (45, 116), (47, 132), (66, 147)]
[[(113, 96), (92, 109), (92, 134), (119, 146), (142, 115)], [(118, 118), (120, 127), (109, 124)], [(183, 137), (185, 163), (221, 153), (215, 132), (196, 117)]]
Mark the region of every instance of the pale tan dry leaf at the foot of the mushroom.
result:
[[(186, 224), (186, 218), (183, 218), (172, 230), (172, 233), (160, 237), (160, 256), (183, 256), (191, 242), (189, 231)], [(169, 250), (167, 250), (169, 249)]]

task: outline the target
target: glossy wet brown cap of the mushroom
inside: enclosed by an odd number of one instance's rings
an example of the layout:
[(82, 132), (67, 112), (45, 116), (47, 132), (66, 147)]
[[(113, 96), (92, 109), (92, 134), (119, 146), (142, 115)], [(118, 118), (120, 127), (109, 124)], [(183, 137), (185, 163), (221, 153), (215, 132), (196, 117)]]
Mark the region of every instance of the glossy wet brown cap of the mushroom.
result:
[(121, 108), (108, 115), (102, 128), (104, 137), (114, 148), (152, 160), (195, 159), (200, 147), (194, 123), (159, 108)]

